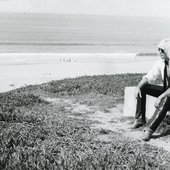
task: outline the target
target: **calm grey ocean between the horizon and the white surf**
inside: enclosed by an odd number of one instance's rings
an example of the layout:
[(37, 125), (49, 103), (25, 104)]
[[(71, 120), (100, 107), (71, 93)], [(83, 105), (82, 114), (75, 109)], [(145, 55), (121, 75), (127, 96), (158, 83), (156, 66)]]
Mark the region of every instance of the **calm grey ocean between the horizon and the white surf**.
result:
[(0, 53), (157, 53), (170, 18), (0, 14)]

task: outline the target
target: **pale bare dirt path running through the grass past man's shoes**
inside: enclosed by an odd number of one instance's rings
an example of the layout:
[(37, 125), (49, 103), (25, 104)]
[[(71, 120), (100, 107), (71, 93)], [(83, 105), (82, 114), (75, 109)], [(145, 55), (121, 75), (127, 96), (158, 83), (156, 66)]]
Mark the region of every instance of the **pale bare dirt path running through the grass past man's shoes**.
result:
[[(70, 117), (93, 120), (96, 123), (92, 124), (92, 128), (119, 132), (126, 137), (145, 143), (141, 140), (143, 129), (131, 129), (132, 119), (128, 119), (123, 116), (122, 104), (118, 104), (116, 107), (104, 112), (100, 111), (97, 106), (87, 106), (80, 104), (79, 102), (75, 103), (69, 99), (46, 98), (46, 100), (53, 104), (64, 106), (64, 108), (69, 112)], [(109, 136), (105, 139), (102, 138), (102, 140), (109, 140)], [(151, 138), (151, 140), (147, 143), (170, 152), (170, 135), (160, 137), (160, 134), (154, 133), (153, 138)]]

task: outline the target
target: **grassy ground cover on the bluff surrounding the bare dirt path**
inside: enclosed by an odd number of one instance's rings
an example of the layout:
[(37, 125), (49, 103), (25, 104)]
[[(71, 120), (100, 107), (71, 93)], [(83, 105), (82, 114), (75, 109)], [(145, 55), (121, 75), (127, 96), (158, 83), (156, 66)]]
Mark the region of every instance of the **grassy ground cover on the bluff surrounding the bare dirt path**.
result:
[[(86, 119), (68, 116), (46, 97), (74, 99), (101, 109), (122, 102), (125, 86), (142, 74), (84, 76), (0, 94), (0, 169), (170, 169), (164, 150), (92, 130)], [(112, 141), (100, 141), (101, 134)]]

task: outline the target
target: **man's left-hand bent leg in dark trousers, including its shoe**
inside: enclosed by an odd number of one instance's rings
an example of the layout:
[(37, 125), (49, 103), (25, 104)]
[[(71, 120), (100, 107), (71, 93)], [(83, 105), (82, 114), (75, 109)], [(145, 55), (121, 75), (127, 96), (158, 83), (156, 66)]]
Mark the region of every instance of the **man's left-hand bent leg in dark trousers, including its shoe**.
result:
[(137, 98), (136, 115), (133, 128), (138, 128), (146, 123), (145, 112), (146, 112), (146, 95), (158, 97), (163, 93), (163, 87), (157, 85), (147, 84), (142, 87), (141, 95), (142, 98)]

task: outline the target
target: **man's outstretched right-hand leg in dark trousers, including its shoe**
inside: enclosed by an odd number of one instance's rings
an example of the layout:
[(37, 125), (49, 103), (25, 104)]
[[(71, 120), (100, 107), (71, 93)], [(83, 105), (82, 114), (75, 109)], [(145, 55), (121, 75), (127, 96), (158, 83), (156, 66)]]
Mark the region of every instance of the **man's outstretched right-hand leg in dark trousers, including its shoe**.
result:
[(153, 117), (148, 122), (147, 129), (144, 131), (142, 139), (149, 141), (152, 134), (156, 131), (162, 120), (165, 118), (167, 111), (170, 109), (170, 98), (165, 98), (156, 109)]

